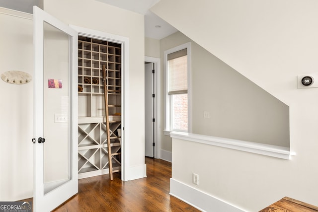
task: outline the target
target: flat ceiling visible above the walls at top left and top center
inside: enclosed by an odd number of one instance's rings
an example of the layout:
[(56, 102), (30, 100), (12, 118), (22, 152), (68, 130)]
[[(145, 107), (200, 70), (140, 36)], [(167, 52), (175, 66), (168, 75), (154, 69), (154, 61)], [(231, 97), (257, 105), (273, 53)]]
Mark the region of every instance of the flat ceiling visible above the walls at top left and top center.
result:
[[(27, 13), (33, 13), (33, 5), (42, 0), (0, 0), (0, 6)], [(145, 37), (162, 39), (177, 29), (149, 10), (160, 0), (96, 0), (145, 15)]]

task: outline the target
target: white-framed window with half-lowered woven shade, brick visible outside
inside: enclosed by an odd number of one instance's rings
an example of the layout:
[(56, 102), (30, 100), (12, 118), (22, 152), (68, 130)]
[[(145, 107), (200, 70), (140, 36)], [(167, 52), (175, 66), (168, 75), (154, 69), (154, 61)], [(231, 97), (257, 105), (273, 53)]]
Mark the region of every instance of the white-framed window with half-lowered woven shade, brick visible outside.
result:
[[(189, 132), (190, 43), (164, 52), (166, 73), (165, 131)], [(168, 135), (168, 134), (167, 134)]]

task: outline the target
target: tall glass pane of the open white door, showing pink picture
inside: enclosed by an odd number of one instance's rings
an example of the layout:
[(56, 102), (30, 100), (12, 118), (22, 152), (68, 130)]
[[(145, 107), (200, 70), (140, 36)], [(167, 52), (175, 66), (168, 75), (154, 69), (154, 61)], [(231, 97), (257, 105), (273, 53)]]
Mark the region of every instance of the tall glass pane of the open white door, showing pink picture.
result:
[(69, 35), (44, 22), (44, 194), (71, 179)]

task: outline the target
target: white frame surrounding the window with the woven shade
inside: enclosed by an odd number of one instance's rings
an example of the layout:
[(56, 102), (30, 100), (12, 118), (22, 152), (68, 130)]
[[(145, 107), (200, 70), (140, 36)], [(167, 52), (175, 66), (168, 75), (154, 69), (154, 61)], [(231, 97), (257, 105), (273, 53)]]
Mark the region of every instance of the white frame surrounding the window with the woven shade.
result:
[(164, 51), (164, 78), (165, 78), (165, 122), (164, 122), (164, 131), (163, 134), (166, 136), (170, 136), (171, 132), (174, 132), (171, 130), (171, 98), (170, 95), (168, 95), (168, 87), (169, 87), (169, 74), (168, 74), (168, 54), (171, 54), (173, 52), (180, 51), (182, 49), (187, 49), (187, 67), (188, 67), (188, 131), (187, 133), (191, 133), (191, 42), (182, 44), (180, 46), (176, 46), (174, 48), (168, 49)]

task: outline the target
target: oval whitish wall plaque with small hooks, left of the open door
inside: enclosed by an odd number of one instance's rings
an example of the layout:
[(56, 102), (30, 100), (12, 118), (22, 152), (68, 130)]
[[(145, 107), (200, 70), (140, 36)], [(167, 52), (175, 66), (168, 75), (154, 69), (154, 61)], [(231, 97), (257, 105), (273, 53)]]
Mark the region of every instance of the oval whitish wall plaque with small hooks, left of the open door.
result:
[(1, 74), (1, 79), (10, 84), (25, 84), (32, 80), (32, 76), (23, 71), (6, 71)]

